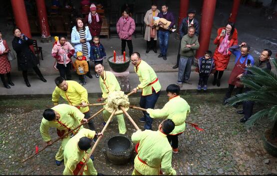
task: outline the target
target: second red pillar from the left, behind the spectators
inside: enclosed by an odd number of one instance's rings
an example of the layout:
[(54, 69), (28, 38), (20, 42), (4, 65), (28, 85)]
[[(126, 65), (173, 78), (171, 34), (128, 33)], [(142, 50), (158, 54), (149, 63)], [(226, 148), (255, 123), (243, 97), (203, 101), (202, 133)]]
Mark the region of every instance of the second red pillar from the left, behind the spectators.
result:
[(42, 42), (50, 42), (50, 30), (48, 24), (48, 18), (45, 7), (45, 0), (36, 0), (37, 14), (41, 32), (41, 41)]

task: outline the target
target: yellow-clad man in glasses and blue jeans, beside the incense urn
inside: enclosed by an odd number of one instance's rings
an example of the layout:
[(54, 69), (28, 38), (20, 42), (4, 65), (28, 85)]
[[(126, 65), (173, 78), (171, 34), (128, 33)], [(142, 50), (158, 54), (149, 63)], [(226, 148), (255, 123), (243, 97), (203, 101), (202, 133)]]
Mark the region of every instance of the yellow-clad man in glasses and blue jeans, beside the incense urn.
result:
[[(140, 54), (134, 52), (131, 55), (131, 62), (134, 65), (135, 72), (139, 77), (140, 84), (133, 89), (136, 93), (137, 90), (142, 89), (140, 97), (140, 106), (142, 108), (154, 108), (159, 98), (161, 85), (154, 70), (140, 58)], [(152, 129), (152, 121), (149, 114), (143, 111), (143, 117), (140, 122), (146, 122), (144, 129)]]

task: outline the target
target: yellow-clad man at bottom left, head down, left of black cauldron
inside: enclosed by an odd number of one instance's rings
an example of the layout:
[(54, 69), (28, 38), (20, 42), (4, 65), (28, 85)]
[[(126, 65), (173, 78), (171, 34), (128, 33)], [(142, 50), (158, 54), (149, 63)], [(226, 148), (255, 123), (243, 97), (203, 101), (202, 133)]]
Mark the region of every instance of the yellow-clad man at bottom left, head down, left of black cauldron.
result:
[[(89, 129), (81, 129), (78, 134), (73, 136), (67, 142), (64, 148), (64, 171), (63, 175), (77, 175), (81, 170), (85, 160), (88, 157), (88, 149), (92, 144), (92, 139), (96, 136), (102, 137), (103, 133), (96, 135), (95, 131)], [(83, 173), (81, 175), (103, 175), (97, 173), (91, 159), (88, 160)]]

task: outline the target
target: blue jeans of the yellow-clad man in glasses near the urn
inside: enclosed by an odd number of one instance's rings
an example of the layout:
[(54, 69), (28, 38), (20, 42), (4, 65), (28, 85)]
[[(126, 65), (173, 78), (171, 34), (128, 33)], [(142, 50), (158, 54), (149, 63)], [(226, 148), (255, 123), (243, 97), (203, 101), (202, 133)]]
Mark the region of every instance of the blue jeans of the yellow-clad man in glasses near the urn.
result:
[[(145, 108), (145, 109), (147, 109), (147, 108), (154, 109), (159, 96), (160, 96), (160, 91), (157, 93), (156, 93), (156, 91), (153, 91), (151, 95), (140, 96), (140, 102), (139, 102), (140, 107)], [(145, 118), (144, 129), (146, 129), (146, 130), (152, 129), (153, 119), (145, 111), (143, 111), (143, 117)]]

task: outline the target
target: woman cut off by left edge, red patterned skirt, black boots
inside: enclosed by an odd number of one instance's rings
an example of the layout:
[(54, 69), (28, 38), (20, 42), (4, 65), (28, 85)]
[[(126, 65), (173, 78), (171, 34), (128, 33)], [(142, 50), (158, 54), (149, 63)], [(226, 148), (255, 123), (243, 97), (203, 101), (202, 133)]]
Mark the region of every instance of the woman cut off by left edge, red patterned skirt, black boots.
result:
[[(2, 39), (2, 33), (0, 31), (0, 77), (5, 88), (10, 88), (8, 84), (14, 86), (10, 78), (10, 63), (7, 59), (8, 52), (10, 52), (10, 50), (6, 41)], [(5, 81), (5, 74), (7, 76), (7, 82)]]

